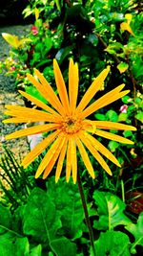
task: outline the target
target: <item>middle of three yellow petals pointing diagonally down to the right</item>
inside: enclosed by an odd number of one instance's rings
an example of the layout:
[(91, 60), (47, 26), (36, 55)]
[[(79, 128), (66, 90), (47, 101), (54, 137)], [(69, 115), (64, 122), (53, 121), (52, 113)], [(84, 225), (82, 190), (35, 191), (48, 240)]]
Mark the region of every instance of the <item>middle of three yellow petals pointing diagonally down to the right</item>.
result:
[(107, 165), (107, 163), (104, 161), (102, 156), (96, 151), (93, 147), (92, 144), (88, 142), (86, 136), (81, 136), (80, 137), (81, 141), (84, 143), (84, 145), (88, 148), (89, 151), (91, 151), (92, 155), (94, 158), (99, 162), (99, 164), (102, 166), (102, 168), (109, 174), (112, 175), (112, 171)]

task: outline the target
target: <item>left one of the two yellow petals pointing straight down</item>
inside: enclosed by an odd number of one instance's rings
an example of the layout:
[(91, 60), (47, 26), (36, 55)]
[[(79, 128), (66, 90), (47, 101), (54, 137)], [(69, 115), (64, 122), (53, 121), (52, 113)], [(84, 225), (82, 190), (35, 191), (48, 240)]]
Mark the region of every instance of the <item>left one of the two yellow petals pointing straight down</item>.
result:
[(66, 161), (66, 181), (69, 182), (71, 171), (72, 171), (72, 144), (71, 138), (69, 138), (68, 148), (67, 148), (67, 161)]

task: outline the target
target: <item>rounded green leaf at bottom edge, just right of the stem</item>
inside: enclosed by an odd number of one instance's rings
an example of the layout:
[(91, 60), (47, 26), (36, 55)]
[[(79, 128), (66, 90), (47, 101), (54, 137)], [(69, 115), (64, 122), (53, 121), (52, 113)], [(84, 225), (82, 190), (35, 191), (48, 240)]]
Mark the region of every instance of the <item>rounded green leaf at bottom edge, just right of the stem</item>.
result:
[[(106, 231), (100, 234), (99, 239), (94, 243), (96, 256), (130, 256), (129, 237), (120, 231)], [(92, 248), (91, 248), (91, 256)]]

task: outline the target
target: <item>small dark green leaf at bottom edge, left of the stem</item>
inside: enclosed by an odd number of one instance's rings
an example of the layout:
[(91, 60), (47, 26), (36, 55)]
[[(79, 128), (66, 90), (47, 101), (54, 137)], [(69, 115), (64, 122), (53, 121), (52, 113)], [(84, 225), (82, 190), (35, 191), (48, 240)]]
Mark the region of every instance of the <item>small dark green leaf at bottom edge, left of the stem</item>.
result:
[(76, 245), (64, 237), (52, 241), (51, 248), (57, 256), (76, 255)]

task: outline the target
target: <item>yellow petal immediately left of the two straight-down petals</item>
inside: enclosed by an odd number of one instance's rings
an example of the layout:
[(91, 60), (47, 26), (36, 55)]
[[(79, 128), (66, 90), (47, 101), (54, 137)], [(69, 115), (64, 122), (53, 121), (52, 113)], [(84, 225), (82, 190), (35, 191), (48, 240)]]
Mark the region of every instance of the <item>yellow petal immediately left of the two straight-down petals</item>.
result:
[(61, 172), (62, 172), (62, 167), (63, 167), (63, 163), (64, 163), (64, 158), (65, 158), (65, 155), (66, 155), (66, 150), (67, 150), (67, 139), (63, 145), (63, 148), (60, 152), (60, 156), (59, 156), (59, 159), (58, 159), (58, 162), (57, 162), (57, 167), (56, 167), (56, 172), (55, 172), (55, 182), (58, 181), (60, 175), (61, 175)]

